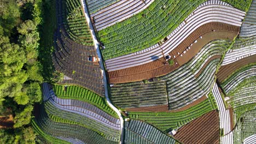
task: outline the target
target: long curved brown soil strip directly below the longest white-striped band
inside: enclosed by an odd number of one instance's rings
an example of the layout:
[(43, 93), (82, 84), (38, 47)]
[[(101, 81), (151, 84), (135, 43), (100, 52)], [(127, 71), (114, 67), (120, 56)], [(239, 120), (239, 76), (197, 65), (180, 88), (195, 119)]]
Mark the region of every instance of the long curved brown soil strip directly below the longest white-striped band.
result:
[[(208, 26), (206, 25), (205, 27), (207, 28)], [(198, 35), (198, 33), (195, 33), (195, 34)], [(176, 57), (176, 59), (174, 59), (173, 65), (164, 64), (164, 62), (166, 62), (165, 58), (160, 58), (157, 61), (139, 65), (136, 67), (121, 69), (117, 71), (110, 71), (108, 73), (109, 82), (124, 83), (124, 82), (139, 81), (144, 79), (150, 79), (152, 77), (166, 75), (176, 70), (177, 68), (181, 67), (183, 64), (189, 62), (191, 58), (196, 56), (196, 54), (202, 49), (203, 46), (207, 45), (211, 41), (217, 40), (217, 39), (232, 40), (236, 35), (237, 35), (236, 32), (234, 33), (234, 32), (227, 32), (227, 31), (208, 32), (202, 35), (202, 39), (197, 38), (196, 39), (197, 43), (193, 43), (193, 45), (190, 46), (190, 49), (186, 49), (185, 51), (183, 50), (172, 51), (172, 53), (177, 53), (177, 52), (182, 53), (181, 55)], [(192, 35), (192, 38), (193, 37), (194, 35)], [(187, 44), (188, 45), (190, 44), (189, 41)], [(181, 46), (181, 47), (184, 47), (184, 46)]]

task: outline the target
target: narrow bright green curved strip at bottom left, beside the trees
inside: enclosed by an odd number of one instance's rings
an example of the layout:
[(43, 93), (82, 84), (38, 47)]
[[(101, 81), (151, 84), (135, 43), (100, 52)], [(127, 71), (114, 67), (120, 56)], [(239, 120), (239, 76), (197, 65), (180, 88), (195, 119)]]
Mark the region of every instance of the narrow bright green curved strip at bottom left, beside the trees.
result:
[(37, 123), (34, 121), (34, 119), (32, 119), (32, 127), (34, 128), (34, 131), (36, 131), (37, 134), (39, 134), (40, 136), (42, 136), (46, 141), (50, 142), (50, 143), (63, 143), (63, 144), (68, 144), (70, 142), (67, 142), (65, 140), (61, 140), (61, 139), (57, 139), (56, 137), (53, 137), (47, 133), (45, 133), (38, 125)]

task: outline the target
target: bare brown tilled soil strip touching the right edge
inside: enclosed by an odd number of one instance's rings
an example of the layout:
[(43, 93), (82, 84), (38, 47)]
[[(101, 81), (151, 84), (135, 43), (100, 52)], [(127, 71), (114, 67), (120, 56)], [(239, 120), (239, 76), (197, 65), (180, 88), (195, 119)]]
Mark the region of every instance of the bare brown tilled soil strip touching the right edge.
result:
[(256, 62), (256, 55), (242, 58), (234, 63), (223, 65), (222, 67), (219, 68), (217, 79), (220, 83), (222, 83), (235, 70), (243, 67), (244, 65), (247, 65), (249, 63), (254, 63), (254, 62)]

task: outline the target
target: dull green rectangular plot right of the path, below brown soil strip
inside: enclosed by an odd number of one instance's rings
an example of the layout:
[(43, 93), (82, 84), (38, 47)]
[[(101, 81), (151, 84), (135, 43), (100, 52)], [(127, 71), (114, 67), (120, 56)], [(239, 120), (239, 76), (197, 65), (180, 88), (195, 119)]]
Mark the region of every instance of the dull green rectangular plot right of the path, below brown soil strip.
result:
[(110, 92), (113, 104), (121, 109), (167, 104), (165, 82), (115, 84)]

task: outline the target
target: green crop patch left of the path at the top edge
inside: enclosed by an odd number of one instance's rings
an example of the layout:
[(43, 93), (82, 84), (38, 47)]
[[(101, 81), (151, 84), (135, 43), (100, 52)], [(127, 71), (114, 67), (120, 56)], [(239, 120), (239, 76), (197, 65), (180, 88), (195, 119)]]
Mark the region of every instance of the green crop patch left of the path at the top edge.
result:
[(62, 3), (66, 6), (62, 7), (62, 12), (66, 13), (65, 22), (69, 37), (80, 44), (94, 45), (80, 0), (64, 0)]

